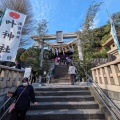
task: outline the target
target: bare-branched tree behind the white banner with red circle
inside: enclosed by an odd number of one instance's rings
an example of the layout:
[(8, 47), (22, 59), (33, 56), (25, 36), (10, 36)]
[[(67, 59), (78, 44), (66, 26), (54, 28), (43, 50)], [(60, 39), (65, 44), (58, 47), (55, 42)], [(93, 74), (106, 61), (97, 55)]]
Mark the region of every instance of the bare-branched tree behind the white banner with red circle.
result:
[[(5, 8), (18, 11), (27, 15), (25, 25), (22, 30), (22, 38), (20, 40), (20, 46), (30, 44), (28, 34), (34, 29), (33, 28), (33, 14), (32, 7), (29, 0), (0, 0), (0, 8), (3, 11)], [(32, 26), (32, 27), (31, 27)]]

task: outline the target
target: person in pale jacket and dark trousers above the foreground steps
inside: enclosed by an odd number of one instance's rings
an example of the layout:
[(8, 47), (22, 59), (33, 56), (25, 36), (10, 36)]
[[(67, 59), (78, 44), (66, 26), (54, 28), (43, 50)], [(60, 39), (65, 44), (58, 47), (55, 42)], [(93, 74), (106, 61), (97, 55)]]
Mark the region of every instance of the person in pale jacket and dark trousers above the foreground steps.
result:
[(71, 81), (71, 85), (74, 85), (74, 76), (75, 76), (75, 71), (76, 71), (76, 67), (70, 63), (69, 69), (68, 69), (68, 74), (70, 74), (70, 81)]

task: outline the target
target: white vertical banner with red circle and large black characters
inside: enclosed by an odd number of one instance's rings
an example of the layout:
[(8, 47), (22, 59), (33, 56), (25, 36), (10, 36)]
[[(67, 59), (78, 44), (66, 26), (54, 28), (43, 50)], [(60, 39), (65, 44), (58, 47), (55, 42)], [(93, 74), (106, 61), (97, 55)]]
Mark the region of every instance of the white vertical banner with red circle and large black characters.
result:
[(26, 15), (6, 9), (0, 26), (0, 61), (14, 62)]

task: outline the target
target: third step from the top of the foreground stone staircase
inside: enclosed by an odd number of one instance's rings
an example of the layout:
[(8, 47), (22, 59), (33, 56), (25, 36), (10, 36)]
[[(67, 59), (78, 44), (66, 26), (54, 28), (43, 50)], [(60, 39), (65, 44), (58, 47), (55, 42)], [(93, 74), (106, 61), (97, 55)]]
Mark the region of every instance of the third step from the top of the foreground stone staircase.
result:
[(36, 100), (39, 102), (78, 102), (78, 101), (94, 101), (94, 97), (91, 95), (79, 95), (79, 96), (36, 96)]

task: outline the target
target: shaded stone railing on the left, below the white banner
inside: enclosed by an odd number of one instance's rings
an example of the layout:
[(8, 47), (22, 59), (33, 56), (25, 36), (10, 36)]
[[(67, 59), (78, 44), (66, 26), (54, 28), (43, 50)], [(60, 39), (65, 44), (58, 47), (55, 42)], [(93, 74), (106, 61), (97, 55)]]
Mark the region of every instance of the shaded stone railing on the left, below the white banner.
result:
[(24, 71), (0, 65), (0, 101), (8, 91), (14, 91), (21, 84)]

